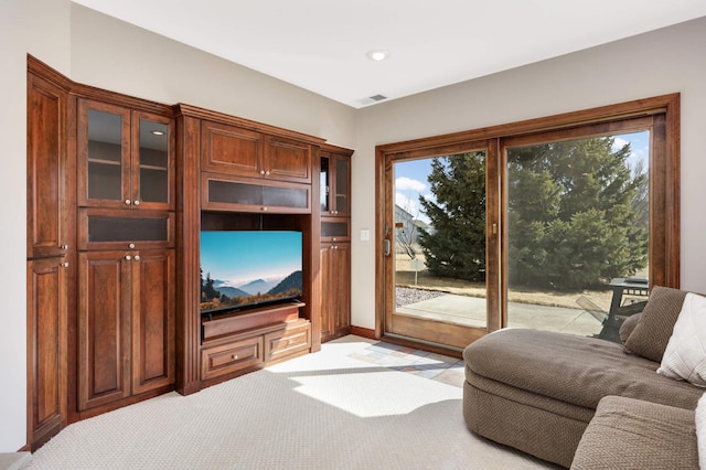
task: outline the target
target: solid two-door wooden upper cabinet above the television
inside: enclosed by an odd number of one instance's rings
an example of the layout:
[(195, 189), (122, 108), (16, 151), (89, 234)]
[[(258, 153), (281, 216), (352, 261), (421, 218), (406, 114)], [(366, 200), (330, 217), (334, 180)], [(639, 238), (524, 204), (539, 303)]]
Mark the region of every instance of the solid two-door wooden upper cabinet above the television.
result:
[(311, 145), (208, 120), (201, 126), (203, 170), (311, 183)]

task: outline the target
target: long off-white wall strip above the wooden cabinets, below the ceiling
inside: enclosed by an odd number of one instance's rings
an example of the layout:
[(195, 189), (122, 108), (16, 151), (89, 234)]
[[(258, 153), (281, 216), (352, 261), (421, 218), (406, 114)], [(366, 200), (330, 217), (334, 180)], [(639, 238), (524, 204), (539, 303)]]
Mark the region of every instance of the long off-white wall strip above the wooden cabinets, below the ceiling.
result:
[(354, 108), (77, 4), (72, 7), (72, 79), (355, 145)]

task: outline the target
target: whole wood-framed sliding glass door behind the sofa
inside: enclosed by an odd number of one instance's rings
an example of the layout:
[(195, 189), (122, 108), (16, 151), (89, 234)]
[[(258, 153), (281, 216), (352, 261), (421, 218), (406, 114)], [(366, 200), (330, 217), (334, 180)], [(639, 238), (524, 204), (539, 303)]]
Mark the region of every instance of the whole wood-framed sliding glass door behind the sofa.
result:
[(377, 162), (384, 335), (616, 341), (651, 286), (678, 287), (678, 95), (381, 146)]

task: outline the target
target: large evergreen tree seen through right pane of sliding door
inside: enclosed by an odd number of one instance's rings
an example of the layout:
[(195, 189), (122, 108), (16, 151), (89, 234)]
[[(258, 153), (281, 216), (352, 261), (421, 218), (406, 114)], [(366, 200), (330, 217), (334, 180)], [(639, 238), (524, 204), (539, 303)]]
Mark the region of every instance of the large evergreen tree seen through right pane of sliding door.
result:
[(648, 260), (646, 174), (612, 137), (510, 149), (510, 282), (584, 289)]

